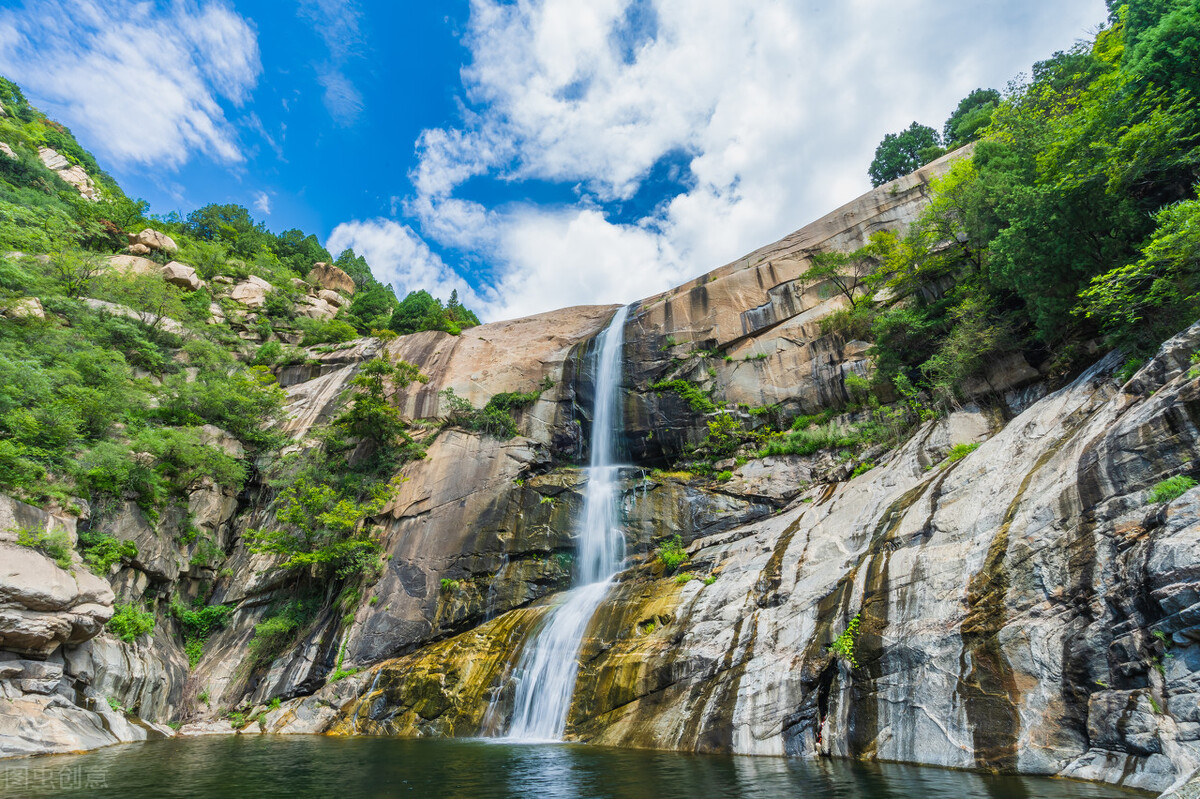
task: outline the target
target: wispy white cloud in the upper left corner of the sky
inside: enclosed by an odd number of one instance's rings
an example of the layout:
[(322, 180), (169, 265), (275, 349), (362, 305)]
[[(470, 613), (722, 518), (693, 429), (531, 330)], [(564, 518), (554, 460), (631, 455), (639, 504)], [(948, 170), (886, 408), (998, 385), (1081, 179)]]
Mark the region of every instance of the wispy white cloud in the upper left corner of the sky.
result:
[(46, 0), (0, 11), (0, 72), (118, 163), (244, 160), (222, 101), (245, 103), (262, 66), (228, 4)]

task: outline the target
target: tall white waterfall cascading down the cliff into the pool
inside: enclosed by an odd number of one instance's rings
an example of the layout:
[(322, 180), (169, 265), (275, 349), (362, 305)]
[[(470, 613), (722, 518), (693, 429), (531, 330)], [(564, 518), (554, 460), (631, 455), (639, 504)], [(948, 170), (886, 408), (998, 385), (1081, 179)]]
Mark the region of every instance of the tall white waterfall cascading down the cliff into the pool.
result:
[(620, 308), (596, 342), (592, 459), (583, 497), (583, 525), (575, 557), (576, 587), (526, 644), (517, 662), (516, 702), (509, 738), (562, 740), (575, 692), (583, 633), (625, 558), (618, 511), (616, 433), (620, 422), (620, 366), (625, 318)]

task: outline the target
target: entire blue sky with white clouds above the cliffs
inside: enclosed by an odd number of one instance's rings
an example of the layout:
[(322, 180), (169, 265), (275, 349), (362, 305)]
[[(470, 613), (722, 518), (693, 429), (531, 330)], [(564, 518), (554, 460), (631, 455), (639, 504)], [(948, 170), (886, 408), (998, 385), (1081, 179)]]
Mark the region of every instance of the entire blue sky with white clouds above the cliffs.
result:
[(624, 302), (869, 188), (1103, 0), (0, 0), (0, 73), (155, 212), (239, 203), (486, 319)]

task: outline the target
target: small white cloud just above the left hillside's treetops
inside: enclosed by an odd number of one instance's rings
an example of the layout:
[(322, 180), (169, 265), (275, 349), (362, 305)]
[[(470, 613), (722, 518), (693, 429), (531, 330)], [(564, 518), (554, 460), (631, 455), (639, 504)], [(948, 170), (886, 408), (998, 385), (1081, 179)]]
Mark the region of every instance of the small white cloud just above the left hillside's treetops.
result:
[(412, 228), (394, 220), (343, 222), (334, 228), (325, 248), (334, 256), (353, 248), (371, 264), (376, 280), (391, 284), (401, 299), (425, 289), (444, 300), (457, 290), (468, 307), (485, 305), (485, 299), (431, 252)]

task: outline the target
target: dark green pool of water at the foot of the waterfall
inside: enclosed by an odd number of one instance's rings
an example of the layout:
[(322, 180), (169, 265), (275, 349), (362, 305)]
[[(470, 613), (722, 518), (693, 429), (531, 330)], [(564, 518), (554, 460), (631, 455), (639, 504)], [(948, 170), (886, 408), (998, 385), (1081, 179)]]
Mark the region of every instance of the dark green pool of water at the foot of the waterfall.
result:
[(1147, 794), (912, 765), (569, 744), (238, 735), (0, 762), (0, 797), (1116, 799)]

